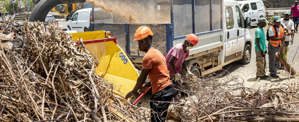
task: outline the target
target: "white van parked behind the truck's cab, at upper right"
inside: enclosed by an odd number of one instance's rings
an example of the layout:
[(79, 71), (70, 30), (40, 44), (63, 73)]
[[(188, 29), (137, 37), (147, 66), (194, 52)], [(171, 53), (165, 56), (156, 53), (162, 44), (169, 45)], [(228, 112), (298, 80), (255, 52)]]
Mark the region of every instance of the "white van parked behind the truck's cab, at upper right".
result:
[(237, 1), (244, 17), (251, 18), (251, 24), (258, 24), (258, 19), (266, 16), (265, 5), (261, 0)]

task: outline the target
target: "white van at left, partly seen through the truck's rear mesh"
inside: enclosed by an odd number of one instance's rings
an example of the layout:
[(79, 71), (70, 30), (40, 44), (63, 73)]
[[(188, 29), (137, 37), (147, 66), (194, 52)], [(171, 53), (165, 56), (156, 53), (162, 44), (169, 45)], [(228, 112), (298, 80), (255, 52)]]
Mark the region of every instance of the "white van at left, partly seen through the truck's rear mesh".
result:
[[(105, 12), (101, 8), (94, 8), (95, 23), (113, 23), (112, 13)], [(77, 10), (72, 18), (67, 21), (69, 30), (77, 32), (86, 32), (89, 30), (89, 24), (92, 22), (92, 8)]]

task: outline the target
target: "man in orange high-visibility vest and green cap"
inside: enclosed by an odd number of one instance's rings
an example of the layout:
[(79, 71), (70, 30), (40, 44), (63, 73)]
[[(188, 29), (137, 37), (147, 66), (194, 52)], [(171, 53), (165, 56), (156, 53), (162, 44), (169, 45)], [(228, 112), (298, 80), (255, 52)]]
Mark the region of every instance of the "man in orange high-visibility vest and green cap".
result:
[(277, 75), (277, 67), (279, 61), (276, 58), (275, 53), (278, 52), (278, 50), (282, 46), (282, 40), (286, 39), (286, 37), (283, 35), (284, 30), (288, 31), (287, 35), (290, 35), (292, 33), (291, 30), (287, 29), (286, 25), (281, 24), (281, 21), (282, 20), (279, 16), (274, 16), (274, 24), (271, 27), (269, 27), (268, 30), (269, 72), (271, 77), (274, 78), (279, 78), (279, 76)]

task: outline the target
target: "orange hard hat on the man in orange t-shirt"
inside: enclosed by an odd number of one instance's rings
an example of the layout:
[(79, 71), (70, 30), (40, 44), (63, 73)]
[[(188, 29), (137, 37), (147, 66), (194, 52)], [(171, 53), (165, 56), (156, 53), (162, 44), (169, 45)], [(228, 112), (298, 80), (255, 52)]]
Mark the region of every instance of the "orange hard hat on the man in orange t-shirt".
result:
[(151, 36), (154, 35), (152, 30), (150, 30), (150, 28), (147, 27), (147, 26), (141, 26), (136, 30), (136, 32), (134, 34), (134, 40), (133, 41), (137, 41), (137, 40), (146, 38), (149, 35), (151, 35)]

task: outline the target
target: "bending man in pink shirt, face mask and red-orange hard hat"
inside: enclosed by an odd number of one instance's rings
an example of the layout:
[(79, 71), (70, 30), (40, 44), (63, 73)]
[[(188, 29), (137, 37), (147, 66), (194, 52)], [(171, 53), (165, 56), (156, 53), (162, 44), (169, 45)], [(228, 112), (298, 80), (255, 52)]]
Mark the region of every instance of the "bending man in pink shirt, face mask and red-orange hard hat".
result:
[(178, 100), (178, 95), (181, 93), (180, 90), (181, 84), (181, 70), (182, 66), (187, 71), (188, 76), (194, 76), (193, 73), (190, 72), (185, 59), (189, 56), (189, 49), (191, 49), (194, 45), (198, 43), (198, 38), (195, 34), (189, 34), (183, 43), (176, 44), (169, 50), (167, 53), (166, 63), (167, 69), (170, 74), (170, 79), (173, 83), (175, 83), (175, 94), (174, 99), (175, 101)]

